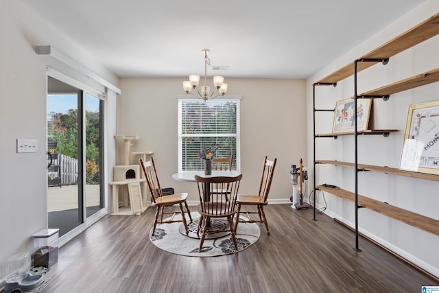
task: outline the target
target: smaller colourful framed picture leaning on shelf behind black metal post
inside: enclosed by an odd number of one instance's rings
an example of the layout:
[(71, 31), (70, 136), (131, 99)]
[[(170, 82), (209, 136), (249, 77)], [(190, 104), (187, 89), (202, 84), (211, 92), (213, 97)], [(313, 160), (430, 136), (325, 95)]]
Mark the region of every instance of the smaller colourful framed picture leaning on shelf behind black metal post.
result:
[[(355, 100), (342, 99), (335, 103), (333, 133), (353, 132), (355, 130)], [(357, 99), (357, 130), (367, 130), (372, 99)]]

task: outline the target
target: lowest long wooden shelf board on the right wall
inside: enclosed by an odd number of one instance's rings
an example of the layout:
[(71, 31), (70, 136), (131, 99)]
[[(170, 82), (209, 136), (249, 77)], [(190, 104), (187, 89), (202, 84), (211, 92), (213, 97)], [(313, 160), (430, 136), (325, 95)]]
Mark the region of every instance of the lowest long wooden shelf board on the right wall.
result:
[[(316, 189), (326, 191), (329, 194), (333, 194), (334, 196), (343, 198), (344, 200), (355, 202), (355, 194), (353, 194), (351, 191), (346, 191), (339, 188), (324, 187), (322, 185), (316, 186)], [(394, 220), (398, 220), (425, 232), (439, 236), (439, 220), (434, 220), (432, 218), (425, 217), (424, 215), (392, 206), (391, 204), (387, 204), (385, 202), (373, 200), (372, 198), (367, 198), (366, 196), (359, 195), (358, 204), (361, 207), (370, 209), (371, 211), (381, 213), (381, 215), (385, 215)]]

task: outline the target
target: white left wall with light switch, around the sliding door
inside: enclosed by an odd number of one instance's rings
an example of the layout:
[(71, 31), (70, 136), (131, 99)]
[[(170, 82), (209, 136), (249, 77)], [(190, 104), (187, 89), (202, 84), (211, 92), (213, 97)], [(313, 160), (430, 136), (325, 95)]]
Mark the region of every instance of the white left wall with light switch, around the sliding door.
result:
[[(46, 60), (36, 55), (34, 46), (54, 45), (113, 84), (118, 79), (56, 28), (27, 12), (19, 1), (0, 1), (0, 38), (1, 288), (8, 258), (23, 251), (31, 253), (32, 234), (47, 228)], [(62, 69), (59, 64), (51, 65)], [(115, 101), (115, 94), (110, 93), (109, 99)], [(108, 129), (115, 132), (115, 102), (110, 101), (108, 110)], [(16, 139), (37, 139), (38, 152), (17, 154)], [(113, 141), (107, 154), (115, 156)]]

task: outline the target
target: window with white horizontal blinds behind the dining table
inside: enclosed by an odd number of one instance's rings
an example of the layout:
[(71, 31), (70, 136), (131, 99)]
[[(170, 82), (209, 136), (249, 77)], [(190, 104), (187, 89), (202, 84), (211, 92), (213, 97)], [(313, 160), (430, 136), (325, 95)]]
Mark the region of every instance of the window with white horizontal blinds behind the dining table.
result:
[(178, 99), (178, 171), (203, 169), (198, 153), (215, 143), (217, 156), (233, 154), (239, 171), (239, 99)]

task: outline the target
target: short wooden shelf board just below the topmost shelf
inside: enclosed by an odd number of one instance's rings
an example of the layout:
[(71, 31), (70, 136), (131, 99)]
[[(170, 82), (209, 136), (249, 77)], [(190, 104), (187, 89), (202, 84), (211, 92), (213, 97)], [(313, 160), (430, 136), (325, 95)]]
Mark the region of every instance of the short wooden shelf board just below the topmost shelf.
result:
[(361, 93), (359, 97), (363, 96), (384, 96), (392, 95), (392, 93), (399, 93), (401, 91), (407, 91), (409, 89), (414, 89), (418, 86), (424, 86), (425, 84), (431, 84), (433, 82), (439, 81), (439, 69), (434, 69), (415, 75), (411, 78), (406, 78), (405, 80), (400, 80), (399, 82), (394, 82), (386, 86), (381, 86), (378, 89), (372, 91), (367, 91), (366, 93)]

